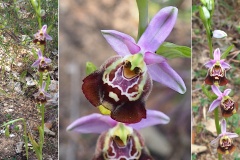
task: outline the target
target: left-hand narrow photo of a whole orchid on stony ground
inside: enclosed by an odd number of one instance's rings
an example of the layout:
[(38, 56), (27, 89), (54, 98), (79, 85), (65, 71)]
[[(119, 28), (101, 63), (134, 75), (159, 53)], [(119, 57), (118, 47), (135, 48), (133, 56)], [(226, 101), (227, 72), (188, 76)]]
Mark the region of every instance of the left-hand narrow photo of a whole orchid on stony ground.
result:
[(58, 1), (0, 2), (0, 159), (58, 159)]

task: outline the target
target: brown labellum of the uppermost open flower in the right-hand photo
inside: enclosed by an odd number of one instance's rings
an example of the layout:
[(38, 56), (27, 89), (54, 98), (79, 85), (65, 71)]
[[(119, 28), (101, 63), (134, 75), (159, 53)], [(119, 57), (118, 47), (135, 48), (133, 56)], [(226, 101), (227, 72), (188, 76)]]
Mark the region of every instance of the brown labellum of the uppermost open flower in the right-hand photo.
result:
[(220, 65), (214, 65), (208, 70), (207, 77), (205, 78), (205, 83), (208, 85), (226, 85), (228, 83), (228, 79), (226, 78), (226, 70), (224, 70)]

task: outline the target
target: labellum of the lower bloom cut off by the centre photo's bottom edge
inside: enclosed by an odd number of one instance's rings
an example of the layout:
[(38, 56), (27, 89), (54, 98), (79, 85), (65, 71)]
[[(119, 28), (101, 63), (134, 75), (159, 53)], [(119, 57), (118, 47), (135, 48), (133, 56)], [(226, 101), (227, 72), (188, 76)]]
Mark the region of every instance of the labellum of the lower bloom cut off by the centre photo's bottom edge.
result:
[(120, 124), (100, 135), (93, 160), (133, 159), (152, 160), (136, 130)]

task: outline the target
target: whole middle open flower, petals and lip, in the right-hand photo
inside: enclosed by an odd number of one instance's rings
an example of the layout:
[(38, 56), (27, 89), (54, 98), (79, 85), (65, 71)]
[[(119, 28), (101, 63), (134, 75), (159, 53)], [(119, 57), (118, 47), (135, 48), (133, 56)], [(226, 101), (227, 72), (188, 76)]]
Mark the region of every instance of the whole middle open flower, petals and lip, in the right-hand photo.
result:
[(228, 96), (231, 89), (226, 89), (223, 93), (215, 85), (212, 85), (212, 91), (218, 96), (209, 107), (208, 112), (212, 112), (217, 106), (220, 105), (222, 116), (230, 117), (238, 110), (238, 103), (234, 102), (232, 98)]

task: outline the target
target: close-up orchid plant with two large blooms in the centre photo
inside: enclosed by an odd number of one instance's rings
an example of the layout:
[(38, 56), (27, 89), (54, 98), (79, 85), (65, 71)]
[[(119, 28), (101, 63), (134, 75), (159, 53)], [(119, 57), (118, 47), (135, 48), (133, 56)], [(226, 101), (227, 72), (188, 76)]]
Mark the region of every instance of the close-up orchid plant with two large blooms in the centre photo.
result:
[[(172, 49), (175, 57), (191, 57), (190, 48), (164, 42), (175, 25), (178, 9), (162, 8), (148, 24), (147, 0), (137, 0), (137, 4), (139, 40), (116, 30), (102, 30), (118, 55), (108, 58), (99, 69), (91, 62), (86, 65), (88, 75), (83, 79), (82, 91), (101, 114), (79, 118), (67, 127), (68, 131), (101, 134), (94, 160), (151, 160), (137, 130), (170, 121), (162, 112), (145, 108), (152, 80), (180, 94), (186, 92), (183, 79), (163, 53)], [(162, 46), (164, 49), (160, 49)]]

